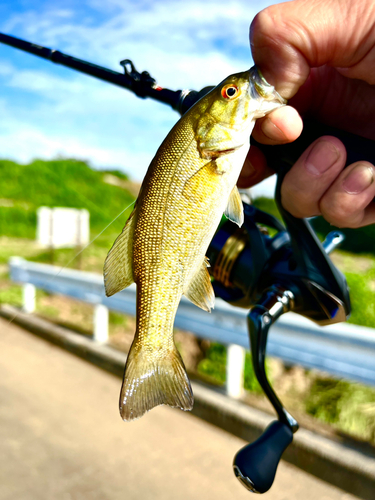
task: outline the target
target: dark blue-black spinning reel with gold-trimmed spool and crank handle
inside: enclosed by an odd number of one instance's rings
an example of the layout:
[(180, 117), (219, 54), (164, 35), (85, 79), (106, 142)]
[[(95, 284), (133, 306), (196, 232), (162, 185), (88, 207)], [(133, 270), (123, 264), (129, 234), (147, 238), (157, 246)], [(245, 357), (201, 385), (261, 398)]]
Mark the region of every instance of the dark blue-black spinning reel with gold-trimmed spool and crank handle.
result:
[[(208, 257), (215, 294), (250, 309), (247, 322), (254, 373), (278, 416), (257, 441), (237, 453), (233, 463), (234, 473), (248, 490), (264, 493), (298, 430), (297, 421), (283, 407), (266, 376), (269, 329), (288, 311), (321, 325), (345, 321), (350, 300), (344, 276), (328, 257), (342, 241), (341, 233), (330, 233), (321, 244), (306, 220), (283, 213), (284, 227), (254, 206), (244, 204), (244, 213), (241, 229), (230, 221), (224, 223), (211, 242)], [(277, 233), (270, 237), (260, 225)]]

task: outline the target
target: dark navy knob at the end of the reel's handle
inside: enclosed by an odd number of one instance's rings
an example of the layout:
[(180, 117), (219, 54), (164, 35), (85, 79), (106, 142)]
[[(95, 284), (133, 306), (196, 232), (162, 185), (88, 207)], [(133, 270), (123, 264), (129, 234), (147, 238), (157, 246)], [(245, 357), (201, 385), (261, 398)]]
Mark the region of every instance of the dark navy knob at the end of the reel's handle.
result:
[(234, 457), (233, 469), (240, 483), (253, 493), (265, 493), (275, 479), (281, 455), (293, 441), (293, 431), (275, 420), (254, 443)]

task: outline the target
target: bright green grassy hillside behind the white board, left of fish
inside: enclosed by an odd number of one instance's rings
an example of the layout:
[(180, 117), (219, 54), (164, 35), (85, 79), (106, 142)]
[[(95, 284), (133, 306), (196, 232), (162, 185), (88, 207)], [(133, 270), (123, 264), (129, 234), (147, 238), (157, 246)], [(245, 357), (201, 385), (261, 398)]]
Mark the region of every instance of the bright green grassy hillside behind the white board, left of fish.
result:
[[(111, 172), (123, 180), (124, 175)], [(74, 159), (35, 160), (19, 165), (0, 160), (0, 236), (35, 238), (40, 206), (86, 208), (92, 235), (109, 224), (134, 197), (121, 187), (106, 184), (105, 172)], [(127, 212), (111, 228), (118, 234)]]

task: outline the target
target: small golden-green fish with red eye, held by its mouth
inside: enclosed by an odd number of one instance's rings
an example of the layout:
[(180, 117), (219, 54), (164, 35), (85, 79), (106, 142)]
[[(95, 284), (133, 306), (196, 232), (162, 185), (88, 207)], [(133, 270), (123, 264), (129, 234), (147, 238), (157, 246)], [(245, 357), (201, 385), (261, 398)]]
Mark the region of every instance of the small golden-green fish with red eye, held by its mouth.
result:
[(123, 420), (158, 405), (193, 407), (173, 340), (182, 295), (210, 312), (206, 250), (225, 215), (243, 223), (236, 187), (255, 120), (286, 101), (256, 67), (228, 76), (191, 107), (153, 158), (134, 209), (104, 263), (107, 296), (137, 285), (136, 332), (120, 395)]

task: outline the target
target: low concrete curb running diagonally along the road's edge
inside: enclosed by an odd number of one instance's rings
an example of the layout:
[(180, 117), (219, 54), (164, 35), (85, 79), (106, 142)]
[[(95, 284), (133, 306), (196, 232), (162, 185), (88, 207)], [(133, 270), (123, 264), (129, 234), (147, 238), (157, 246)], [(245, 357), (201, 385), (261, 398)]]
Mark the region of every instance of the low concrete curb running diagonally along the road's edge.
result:
[[(1, 306), (0, 316), (122, 377), (126, 354), (11, 306)], [(247, 441), (257, 439), (273, 420), (266, 413), (229, 399), (201, 383), (193, 382), (192, 387), (194, 415)], [(375, 498), (374, 455), (300, 429), (283, 458), (358, 497)]]

